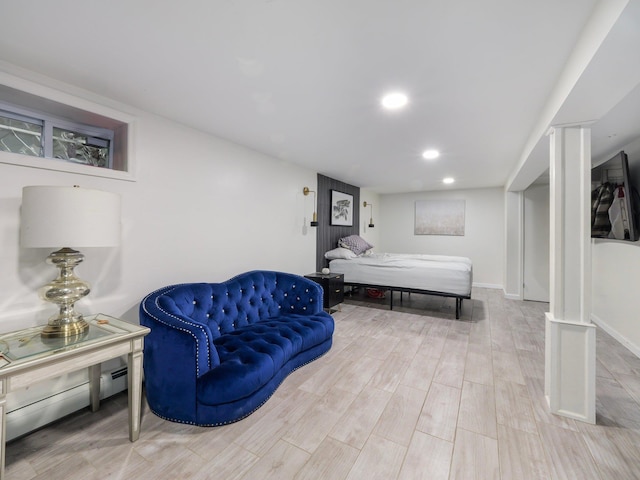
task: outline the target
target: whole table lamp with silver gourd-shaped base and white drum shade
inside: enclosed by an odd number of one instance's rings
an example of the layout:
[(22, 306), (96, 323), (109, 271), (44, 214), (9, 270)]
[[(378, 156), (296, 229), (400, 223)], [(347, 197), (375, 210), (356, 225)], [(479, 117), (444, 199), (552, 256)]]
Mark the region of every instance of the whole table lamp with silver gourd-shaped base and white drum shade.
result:
[(84, 259), (74, 248), (120, 244), (120, 196), (87, 188), (32, 186), (22, 189), (20, 244), (27, 248), (61, 248), (47, 258), (59, 269), (58, 278), (43, 286), (42, 298), (59, 306), (49, 318), (44, 337), (71, 337), (89, 325), (74, 310), (89, 284), (73, 269)]

